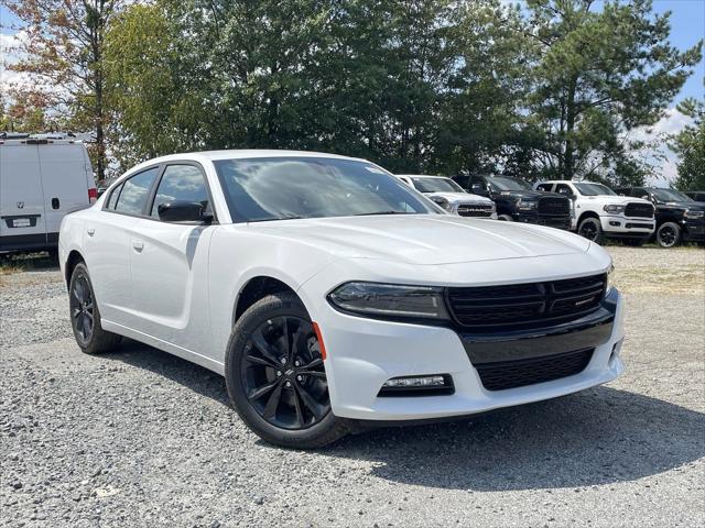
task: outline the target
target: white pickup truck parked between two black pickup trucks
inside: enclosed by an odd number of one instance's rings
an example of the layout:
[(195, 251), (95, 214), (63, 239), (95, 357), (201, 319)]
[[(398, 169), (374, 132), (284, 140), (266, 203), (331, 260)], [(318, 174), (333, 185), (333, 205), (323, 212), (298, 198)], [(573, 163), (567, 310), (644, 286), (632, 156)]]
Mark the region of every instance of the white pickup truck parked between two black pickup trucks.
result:
[(605, 238), (641, 245), (655, 229), (653, 205), (641, 198), (618, 196), (609, 187), (593, 182), (539, 182), (534, 189), (567, 196), (575, 204), (572, 230), (600, 243)]

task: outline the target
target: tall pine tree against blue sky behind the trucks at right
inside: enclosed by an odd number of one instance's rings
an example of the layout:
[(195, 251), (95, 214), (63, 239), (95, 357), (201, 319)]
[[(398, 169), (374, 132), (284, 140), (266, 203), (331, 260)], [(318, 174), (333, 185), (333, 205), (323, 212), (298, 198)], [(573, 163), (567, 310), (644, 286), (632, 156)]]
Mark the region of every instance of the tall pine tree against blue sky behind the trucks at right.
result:
[(538, 43), (528, 99), (541, 168), (560, 178), (646, 170), (626, 132), (655, 123), (702, 58), (669, 44), (670, 13), (651, 0), (528, 0)]

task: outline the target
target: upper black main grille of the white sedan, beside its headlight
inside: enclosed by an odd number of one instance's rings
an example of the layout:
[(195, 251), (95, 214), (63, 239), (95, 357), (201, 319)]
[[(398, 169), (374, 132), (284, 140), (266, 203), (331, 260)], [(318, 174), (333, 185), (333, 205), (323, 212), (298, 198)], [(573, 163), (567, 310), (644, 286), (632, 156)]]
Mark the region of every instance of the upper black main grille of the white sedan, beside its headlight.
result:
[(448, 288), (455, 321), (468, 329), (492, 332), (540, 328), (577, 319), (596, 310), (605, 296), (607, 275), (512, 284)]

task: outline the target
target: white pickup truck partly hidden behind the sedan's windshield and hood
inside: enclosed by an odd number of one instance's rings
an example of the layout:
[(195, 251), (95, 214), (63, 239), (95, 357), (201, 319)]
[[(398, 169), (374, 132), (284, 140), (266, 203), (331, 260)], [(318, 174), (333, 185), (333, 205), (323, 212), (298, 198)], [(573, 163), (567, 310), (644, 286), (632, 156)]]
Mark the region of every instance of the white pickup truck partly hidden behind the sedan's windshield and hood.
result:
[(497, 220), (495, 202), (484, 196), (466, 193), (451, 178), (421, 174), (397, 174), (411, 188), (416, 189), (448, 212), (460, 217)]

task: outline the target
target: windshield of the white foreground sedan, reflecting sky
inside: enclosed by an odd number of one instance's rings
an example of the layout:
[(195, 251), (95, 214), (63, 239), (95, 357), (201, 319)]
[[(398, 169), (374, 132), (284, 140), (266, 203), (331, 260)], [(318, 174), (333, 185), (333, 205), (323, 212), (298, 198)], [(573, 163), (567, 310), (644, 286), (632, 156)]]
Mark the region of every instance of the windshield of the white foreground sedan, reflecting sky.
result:
[(327, 157), (214, 162), (235, 222), (442, 213), (371, 163)]

